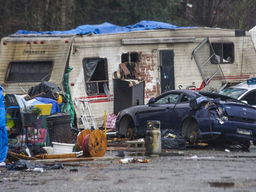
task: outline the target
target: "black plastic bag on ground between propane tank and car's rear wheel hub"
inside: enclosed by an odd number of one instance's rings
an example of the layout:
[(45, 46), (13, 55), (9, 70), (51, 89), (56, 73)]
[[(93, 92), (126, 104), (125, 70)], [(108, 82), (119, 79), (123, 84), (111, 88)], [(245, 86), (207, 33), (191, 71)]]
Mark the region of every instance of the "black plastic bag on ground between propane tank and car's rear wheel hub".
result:
[(162, 149), (185, 149), (186, 140), (170, 129), (161, 133)]

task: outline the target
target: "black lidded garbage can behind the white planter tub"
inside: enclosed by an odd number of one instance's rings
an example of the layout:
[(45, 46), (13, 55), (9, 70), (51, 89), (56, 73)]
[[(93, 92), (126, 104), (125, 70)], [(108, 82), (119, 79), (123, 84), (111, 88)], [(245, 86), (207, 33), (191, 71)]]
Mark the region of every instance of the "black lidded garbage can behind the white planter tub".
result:
[(65, 112), (52, 113), (46, 118), (46, 124), (49, 132), (49, 145), (52, 142), (69, 143), (71, 135), (71, 118)]

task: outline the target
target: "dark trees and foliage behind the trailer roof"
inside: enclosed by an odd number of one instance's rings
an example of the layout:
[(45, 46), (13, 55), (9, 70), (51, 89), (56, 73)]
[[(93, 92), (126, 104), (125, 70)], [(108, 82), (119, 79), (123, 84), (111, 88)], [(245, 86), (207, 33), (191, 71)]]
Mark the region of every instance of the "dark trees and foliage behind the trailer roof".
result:
[(255, 0), (0, 0), (0, 38), (17, 30), (63, 31), (109, 22), (142, 20), (177, 26), (250, 30), (256, 25)]

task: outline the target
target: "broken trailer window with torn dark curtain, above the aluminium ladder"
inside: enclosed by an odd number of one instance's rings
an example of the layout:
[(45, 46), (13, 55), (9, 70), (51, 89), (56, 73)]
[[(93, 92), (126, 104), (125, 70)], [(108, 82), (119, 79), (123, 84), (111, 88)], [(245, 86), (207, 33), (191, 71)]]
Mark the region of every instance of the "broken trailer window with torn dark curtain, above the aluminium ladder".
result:
[(84, 59), (83, 66), (87, 95), (108, 94), (107, 59)]

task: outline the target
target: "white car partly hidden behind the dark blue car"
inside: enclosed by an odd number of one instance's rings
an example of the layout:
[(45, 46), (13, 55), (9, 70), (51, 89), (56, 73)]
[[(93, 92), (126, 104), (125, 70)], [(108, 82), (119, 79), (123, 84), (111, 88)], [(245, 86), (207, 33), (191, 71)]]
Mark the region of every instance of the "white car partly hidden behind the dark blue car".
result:
[(256, 107), (256, 82), (249, 81), (247, 84), (247, 81), (245, 81), (238, 85), (228, 87), (227, 89), (222, 90), (219, 94), (236, 98)]

